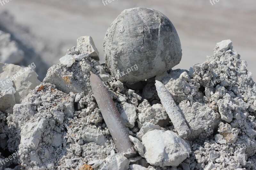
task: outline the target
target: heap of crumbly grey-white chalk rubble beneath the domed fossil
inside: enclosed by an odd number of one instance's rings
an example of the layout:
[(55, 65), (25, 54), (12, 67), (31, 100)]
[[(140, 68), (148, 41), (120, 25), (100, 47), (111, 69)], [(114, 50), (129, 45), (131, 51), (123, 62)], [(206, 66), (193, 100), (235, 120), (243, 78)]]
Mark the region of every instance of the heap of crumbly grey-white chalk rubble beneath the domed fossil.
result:
[[(214, 54), (190, 70), (168, 70), (133, 87), (98, 62), (91, 37), (77, 43), (20, 104), (14, 105), (11, 90), (3, 91), (11, 106), (1, 110), (0, 138), (8, 136), (8, 146), (0, 147), (18, 151), (20, 160), (2, 169), (256, 168), (256, 85), (231, 41), (217, 43)], [(106, 86), (136, 156), (117, 151), (90, 71), (111, 80)]]

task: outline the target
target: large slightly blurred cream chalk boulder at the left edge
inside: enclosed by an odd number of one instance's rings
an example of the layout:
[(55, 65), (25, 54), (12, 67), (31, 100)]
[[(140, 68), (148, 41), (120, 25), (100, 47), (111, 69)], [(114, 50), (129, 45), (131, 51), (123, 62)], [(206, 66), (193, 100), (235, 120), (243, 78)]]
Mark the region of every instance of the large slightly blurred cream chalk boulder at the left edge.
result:
[[(32, 64), (31, 64), (32, 65)], [(0, 63), (0, 78), (13, 82), (16, 92), (14, 93), (15, 102), (21, 103), (28, 95), (29, 90), (35, 89), (41, 82), (37, 79), (38, 75), (28, 67), (20, 67), (14, 64)], [(7, 83), (7, 80), (5, 81)]]

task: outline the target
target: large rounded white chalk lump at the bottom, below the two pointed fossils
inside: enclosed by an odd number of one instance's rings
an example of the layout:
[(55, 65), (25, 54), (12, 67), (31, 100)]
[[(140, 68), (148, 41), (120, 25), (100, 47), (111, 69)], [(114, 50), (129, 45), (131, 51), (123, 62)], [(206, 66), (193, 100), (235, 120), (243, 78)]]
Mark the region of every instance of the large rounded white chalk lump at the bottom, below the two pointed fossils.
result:
[(142, 137), (142, 143), (146, 160), (155, 166), (178, 166), (191, 152), (188, 141), (170, 130), (149, 131)]

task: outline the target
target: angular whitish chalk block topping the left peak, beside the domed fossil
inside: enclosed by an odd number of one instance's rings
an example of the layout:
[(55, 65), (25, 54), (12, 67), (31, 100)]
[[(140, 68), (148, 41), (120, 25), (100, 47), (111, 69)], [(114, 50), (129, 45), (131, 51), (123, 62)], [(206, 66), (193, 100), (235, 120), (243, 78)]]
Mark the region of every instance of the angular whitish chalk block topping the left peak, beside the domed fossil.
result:
[(91, 36), (83, 36), (77, 39), (77, 48), (82, 54), (88, 53), (89, 57), (92, 57), (96, 60), (100, 60), (99, 51), (95, 47), (95, 44)]

